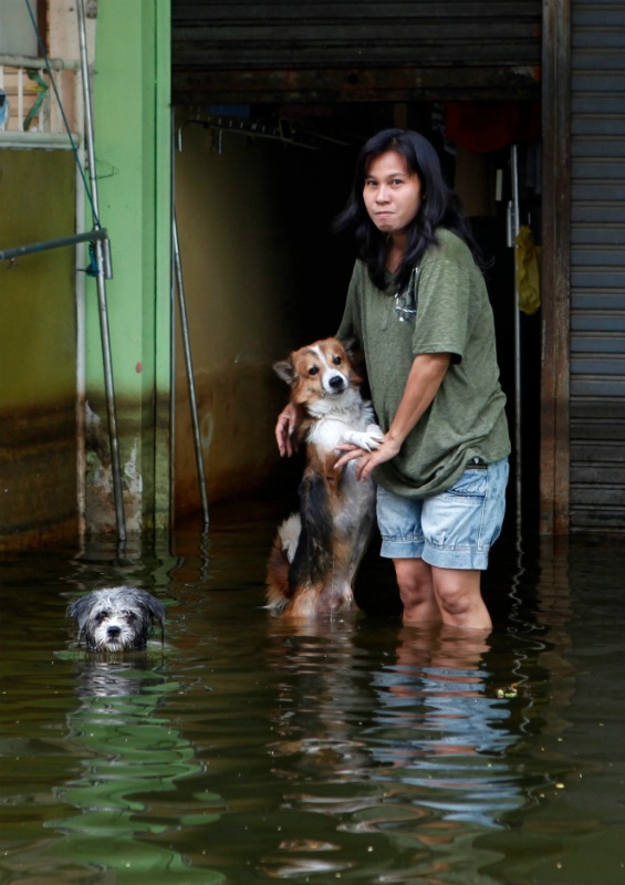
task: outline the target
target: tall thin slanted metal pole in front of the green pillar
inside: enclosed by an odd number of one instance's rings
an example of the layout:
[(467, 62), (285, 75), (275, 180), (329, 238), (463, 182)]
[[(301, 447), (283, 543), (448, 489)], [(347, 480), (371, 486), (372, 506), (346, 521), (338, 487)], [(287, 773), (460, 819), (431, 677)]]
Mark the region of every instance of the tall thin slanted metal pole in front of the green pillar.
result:
[[(93, 226), (100, 228), (100, 208), (97, 200), (97, 176), (95, 170), (95, 149), (93, 143), (93, 112), (91, 105), (91, 88), (87, 65), (86, 28), (83, 0), (77, 0), (79, 38), (81, 46), (81, 69), (85, 106), (85, 140), (91, 180), (91, 201), (93, 209)], [(106, 414), (108, 418), (108, 440), (111, 446), (111, 471), (113, 476), (113, 497), (115, 501), (115, 518), (118, 541), (126, 540), (126, 524), (124, 519), (124, 490), (122, 485), (122, 469), (119, 464), (119, 442), (117, 437), (117, 415), (115, 408), (115, 386), (113, 383), (113, 362), (111, 357), (111, 336), (108, 331), (108, 309), (106, 304), (105, 263), (110, 268), (110, 257), (105, 254), (102, 241), (95, 241), (95, 259), (97, 263), (97, 304), (100, 310), (100, 332), (102, 337), (102, 355), (104, 362), (104, 386), (106, 393)]]

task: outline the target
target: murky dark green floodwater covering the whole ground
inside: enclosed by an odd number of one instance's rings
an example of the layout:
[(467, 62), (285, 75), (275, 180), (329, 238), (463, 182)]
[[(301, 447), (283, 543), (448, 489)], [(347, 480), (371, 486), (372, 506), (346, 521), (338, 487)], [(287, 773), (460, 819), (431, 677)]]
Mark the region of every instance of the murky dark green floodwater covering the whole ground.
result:
[[(0, 883), (625, 883), (622, 543), (502, 539), (485, 641), (404, 628), (375, 556), (366, 612), (272, 616), (277, 518), (0, 559)], [(165, 645), (76, 650), (67, 602), (121, 582)]]

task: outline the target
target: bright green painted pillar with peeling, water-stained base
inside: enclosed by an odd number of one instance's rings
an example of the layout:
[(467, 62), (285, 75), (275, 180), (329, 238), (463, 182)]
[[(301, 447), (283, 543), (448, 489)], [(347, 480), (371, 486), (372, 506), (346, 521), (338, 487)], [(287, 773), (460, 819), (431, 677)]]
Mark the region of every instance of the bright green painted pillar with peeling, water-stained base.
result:
[[(128, 532), (169, 519), (170, 116), (169, 0), (97, 6), (93, 85), (100, 218)], [(88, 214), (88, 206), (87, 206)], [(87, 226), (91, 225), (91, 217)], [(87, 530), (115, 525), (95, 282), (85, 306)]]

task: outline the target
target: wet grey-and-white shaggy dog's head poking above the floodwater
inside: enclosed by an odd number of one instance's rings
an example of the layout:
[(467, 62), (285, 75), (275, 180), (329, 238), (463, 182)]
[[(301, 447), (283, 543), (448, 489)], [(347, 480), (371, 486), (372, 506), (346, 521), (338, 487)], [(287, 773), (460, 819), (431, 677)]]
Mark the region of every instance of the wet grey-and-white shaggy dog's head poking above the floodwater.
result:
[(79, 644), (84, 638), (87, 652), (136, 652), (146, 647), (160, 623), (160, 641), (165, 634), (165, 608), (150, 593), (137, 587), (119, 586), (94, 590), (67, 606), (67, 616), (79, 627)]

